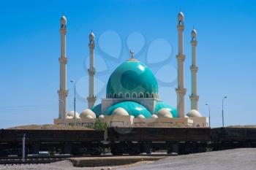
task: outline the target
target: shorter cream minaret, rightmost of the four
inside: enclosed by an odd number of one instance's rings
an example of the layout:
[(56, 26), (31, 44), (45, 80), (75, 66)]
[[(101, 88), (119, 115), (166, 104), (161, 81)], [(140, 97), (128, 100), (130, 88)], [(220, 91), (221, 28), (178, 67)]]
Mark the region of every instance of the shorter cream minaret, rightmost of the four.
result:
[(189, 96), (191, 101), (191, 109), (197, 110), (197, 101), (199, 96), (197, 96), (197, 31), (195, 29), (191, 32), (191, 46), (192, 46), (192, 66), (190, 66), (191, 70), (191, 89), (192, 93)]

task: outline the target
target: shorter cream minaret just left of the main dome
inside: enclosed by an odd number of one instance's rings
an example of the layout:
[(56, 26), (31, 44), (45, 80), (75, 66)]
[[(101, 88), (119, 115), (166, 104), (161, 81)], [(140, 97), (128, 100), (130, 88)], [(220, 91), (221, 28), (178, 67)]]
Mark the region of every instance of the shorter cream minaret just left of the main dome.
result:
[(94, 80), (94, 74), (96, 72), (94, 68), (94, 33), (91, 31), (91, 34), (89, 35), (89, 49), (90, 49), (90, 67), (88, 69), (89, 74), (89, 96), (87, 98), (88, 100), (88, 107), (91, 109), (91, 107), (94, 107), (96, 96), (95, 96), (95, 80)]

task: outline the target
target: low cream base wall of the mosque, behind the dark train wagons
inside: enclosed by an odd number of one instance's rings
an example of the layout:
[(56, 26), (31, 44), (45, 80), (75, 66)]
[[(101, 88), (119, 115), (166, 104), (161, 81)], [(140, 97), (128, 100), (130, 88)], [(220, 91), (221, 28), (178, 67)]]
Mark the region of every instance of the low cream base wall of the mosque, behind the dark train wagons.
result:
[[(208, 117), (156, 117), (143, 118), (134, 117), (132, 115), (109, 115), (99, 118), (94, 117), (79, 117), (78, 125), (93, 126), (99, 120), (101, 123), (106, 123), (108, 126), (118, 127), (176, 127), (176, 128), (206, 128), (208, 127)], [(73, 125), (72, 119), (55, 119), (54, 124), (57, 125)]]

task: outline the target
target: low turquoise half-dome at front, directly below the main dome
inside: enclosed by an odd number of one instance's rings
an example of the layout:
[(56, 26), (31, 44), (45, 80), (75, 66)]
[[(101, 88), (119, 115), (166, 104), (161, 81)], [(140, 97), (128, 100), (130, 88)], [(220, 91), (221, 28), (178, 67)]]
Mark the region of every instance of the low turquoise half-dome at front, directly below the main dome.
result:
[(138, 115), (143, 115), (144, 117), (151, 117), (151, 113), (148, 111), (148, 109), (133, 101), (124, 101), (115, 104), (107, 109), (105, 115), (112, 115), (113, 111), (118, 107), (125, 109), (129, 113), (129, 115), (132, 115), (134, 117), (138, 117)]

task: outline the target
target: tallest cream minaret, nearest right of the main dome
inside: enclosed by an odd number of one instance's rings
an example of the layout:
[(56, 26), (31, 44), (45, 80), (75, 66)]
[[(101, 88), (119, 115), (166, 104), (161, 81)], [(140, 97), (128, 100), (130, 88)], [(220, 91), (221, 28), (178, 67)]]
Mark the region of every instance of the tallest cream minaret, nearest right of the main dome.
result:
[(184, 88), (184, 60), (185, 55), (183, 52), (183, 31), (184, 31), (184, 14), (178, 13), (178, 55), (176, 55), (178, 63), (178, 88), (177, 93), (177, 111), (178, 117), (185, 117), (185, 94), (186, 88)]

